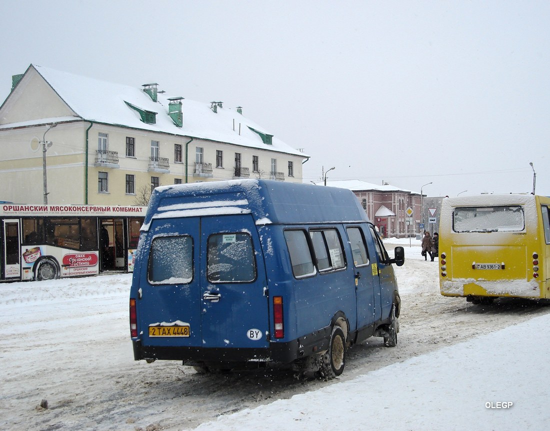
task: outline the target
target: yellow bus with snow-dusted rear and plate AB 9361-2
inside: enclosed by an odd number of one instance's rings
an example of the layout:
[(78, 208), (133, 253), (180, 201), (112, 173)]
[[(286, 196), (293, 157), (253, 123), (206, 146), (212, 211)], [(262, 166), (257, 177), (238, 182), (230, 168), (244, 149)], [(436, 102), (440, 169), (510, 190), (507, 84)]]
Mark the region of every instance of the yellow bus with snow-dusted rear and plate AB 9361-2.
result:
[(550, 198), (482, 194), (445, 198), (439, 287), (474, 304), (499, 296), (550, 298)]

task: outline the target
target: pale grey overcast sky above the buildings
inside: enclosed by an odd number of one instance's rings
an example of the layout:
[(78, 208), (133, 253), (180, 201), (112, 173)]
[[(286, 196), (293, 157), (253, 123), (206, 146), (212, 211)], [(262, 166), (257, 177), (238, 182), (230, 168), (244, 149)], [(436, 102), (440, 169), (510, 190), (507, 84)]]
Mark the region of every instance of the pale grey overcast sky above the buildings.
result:
[[(0, 99), (29, 64), (243, 114), (304, 182), (550, 195), (548, 1), (0, 2)], [(37, 101), (38, 102), (38, 101)], [(425, 186), (425, 184), (432, 182)]]

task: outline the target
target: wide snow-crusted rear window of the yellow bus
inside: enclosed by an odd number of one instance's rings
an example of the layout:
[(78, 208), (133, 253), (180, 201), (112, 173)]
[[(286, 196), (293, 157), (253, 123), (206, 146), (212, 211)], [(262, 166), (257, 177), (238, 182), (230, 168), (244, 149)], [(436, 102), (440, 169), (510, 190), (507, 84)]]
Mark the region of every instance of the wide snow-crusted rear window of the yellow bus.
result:
[(521, 232), (525, 215), (520, 205), (471, 206), (453, 211), (454, 232)]

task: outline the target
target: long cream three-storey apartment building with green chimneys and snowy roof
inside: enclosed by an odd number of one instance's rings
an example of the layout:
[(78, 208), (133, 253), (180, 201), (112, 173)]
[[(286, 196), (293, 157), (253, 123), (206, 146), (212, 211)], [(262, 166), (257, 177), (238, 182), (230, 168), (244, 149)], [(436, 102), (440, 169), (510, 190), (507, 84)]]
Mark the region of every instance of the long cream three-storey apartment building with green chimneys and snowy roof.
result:
[(309, 158), (240, 107), (30, 65), (0, 106), (0, 201), (143, 204), (152, 188), (302, 182)]

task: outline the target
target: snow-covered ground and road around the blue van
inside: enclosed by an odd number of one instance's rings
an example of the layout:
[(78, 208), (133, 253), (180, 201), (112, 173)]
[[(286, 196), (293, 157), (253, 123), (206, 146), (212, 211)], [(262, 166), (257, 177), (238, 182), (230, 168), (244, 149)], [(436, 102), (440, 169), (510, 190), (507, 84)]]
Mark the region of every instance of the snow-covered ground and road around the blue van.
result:
[(384, 240), (390, 254), (396, 244), (405, 247), (405, 265), (395, 268), (403, 300), (398, 346), (385, 348), (379, 338), (354, 346), (344, 374), (330, 382), (284, 371), (201, 375), (175, 361), (134, 361), (127, 274), (0, 284), (0, 424), (133, 431), (548, 426), (550, 307), (444, 298), (437, 260), (424, 261), (419, 243)]

